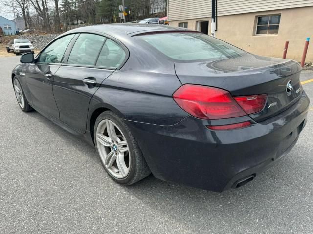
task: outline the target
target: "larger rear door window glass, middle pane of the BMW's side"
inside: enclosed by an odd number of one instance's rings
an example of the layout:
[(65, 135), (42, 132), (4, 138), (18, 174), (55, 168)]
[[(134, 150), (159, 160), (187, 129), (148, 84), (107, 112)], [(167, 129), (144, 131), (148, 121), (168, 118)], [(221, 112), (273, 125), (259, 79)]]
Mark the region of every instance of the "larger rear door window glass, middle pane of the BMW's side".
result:
[(96, 34), (79, 35), (68, 57), (68, 64), (93, 66), (106, 38)]

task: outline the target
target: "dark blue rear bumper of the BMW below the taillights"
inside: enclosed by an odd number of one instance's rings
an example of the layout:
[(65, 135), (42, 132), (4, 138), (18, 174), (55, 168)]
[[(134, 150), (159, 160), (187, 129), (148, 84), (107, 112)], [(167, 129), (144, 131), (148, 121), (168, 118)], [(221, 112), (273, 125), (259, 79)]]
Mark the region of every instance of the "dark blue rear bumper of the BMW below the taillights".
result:
[(154, 176), (221, 192), (259, 175), (292, 149), (306, 124), (309, 102), (303, 92), (283, 113), (230, 131), (209, 130), (207, 121), (191, 116), (173, 126), (128, 124)]

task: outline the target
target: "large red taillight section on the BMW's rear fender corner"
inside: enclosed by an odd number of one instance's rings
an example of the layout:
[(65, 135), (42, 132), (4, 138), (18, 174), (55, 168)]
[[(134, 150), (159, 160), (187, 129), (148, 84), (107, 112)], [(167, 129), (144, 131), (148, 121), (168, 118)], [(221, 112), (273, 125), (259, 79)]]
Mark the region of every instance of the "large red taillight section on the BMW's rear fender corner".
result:
[(223, 89), (185, 84), (175, 91), (173, 98), (183, 110), (201, 119), (246, 115), (230, 93)]

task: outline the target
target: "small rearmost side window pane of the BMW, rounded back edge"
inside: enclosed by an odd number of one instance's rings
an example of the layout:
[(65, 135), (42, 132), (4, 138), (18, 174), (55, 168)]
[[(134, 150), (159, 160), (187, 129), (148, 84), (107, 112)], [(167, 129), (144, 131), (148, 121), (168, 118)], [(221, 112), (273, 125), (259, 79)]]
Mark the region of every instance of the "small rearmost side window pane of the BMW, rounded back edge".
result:
[(119, 67), (126, 57), (124, 49), (111, 39), (107, 39), (100, 52), (96, 66)]

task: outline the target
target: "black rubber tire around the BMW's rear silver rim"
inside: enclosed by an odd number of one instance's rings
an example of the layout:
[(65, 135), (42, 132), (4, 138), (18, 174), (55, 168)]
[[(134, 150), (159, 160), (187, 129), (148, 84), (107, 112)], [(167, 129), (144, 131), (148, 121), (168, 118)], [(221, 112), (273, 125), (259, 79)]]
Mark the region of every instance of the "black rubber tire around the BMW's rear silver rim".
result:
[[(130, 170), (129, 170), (128, 175), (122, 179), (116, 178), (107, 170), (107, 168), (105, 167), (104, 163), (101, 160), (100, 154), (97, 149), (96, 130), (97, 130), (99, 123), (104, 119), (111, 120), (114, 124), (116, 124), (117, 127), (121, 130), (122, 134), (125, 136), (126, 141), (128, 143), (130, 157), (131, 157), (131, 160), (130, 160), (131, 163), (129, 165)], [(151, 171), (148, 167), (146, 160), (144, 159), (142, 155), (142, 152), (137, 144), (137, 141), (135, 140), (134, 136), (132, 135), (126, 123), (121, 118), (119, 118), (115, 113), (113, 113), (112, 111), (105, 111), (98, 116), (95, 122), (95, 126), (94, 126), (93, 137), (94, 137), (95, 148), (99, 155), (102, 166), (114, 181), (122, 185), (131, 185), (150, 175)]]

